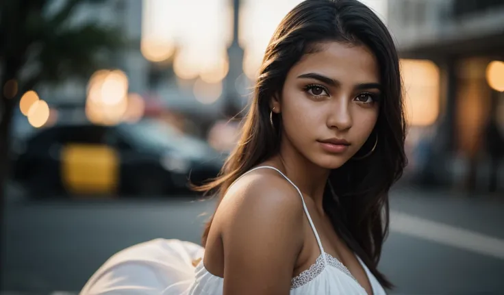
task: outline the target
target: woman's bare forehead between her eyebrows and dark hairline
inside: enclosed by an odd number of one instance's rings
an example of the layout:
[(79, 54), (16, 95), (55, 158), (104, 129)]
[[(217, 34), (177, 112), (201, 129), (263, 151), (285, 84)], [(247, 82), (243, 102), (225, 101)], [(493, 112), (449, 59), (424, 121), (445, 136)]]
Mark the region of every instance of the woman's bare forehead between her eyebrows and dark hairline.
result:
[(327, 42), (316, 45), (317, 51), (305, 54), (290, 75), (318, 73), (342, 84), (378, 83), (379, 68), (375, 55), (364, 45)]

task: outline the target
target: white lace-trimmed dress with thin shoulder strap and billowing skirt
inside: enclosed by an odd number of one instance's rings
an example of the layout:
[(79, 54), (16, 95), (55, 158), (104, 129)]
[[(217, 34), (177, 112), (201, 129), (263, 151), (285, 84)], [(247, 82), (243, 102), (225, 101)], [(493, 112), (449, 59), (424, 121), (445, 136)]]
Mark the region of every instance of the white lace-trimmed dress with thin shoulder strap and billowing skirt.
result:
[[(260, 168), (280, 170), (271, 166)], [(248, 173), (247, 172), (247, 173)], [(245, 174), (247, 174), (245, 173)], [(243, 176), (243, 175), (242, 175)], [(318, 233), (307, 210), (303, 194), (299, 192), (305, 214), (314, 231), (320, 256), (309, 269), (292, 278), (291, 295), (365, 295), (366, 290), (357, 283), (349, 270), (335, 257), (325, 253)], [(80, 295), (162, 294), (162, 295), (222, 295), (224, 279), (208, 272), (203, 259), (194, 267), (192, 261), (203, 257), (204, 249), (194, 243), (180, 240), (156, 239), (137, 244), (116, 253), (92, 275)], [(366, 271), (374, 295), (386, 292), (377, 279), (357, 257)]]

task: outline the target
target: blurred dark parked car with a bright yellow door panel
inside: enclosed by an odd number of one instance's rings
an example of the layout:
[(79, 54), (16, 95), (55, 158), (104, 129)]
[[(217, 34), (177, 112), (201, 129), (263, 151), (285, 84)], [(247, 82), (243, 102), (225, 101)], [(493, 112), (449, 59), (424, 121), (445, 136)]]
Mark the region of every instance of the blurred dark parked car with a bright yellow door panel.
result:
[(14, 181), (36, 196), (170, 195), (216, 177), (223, 157), (205, 141), (155, 120), (60, 125), (29, 138)]

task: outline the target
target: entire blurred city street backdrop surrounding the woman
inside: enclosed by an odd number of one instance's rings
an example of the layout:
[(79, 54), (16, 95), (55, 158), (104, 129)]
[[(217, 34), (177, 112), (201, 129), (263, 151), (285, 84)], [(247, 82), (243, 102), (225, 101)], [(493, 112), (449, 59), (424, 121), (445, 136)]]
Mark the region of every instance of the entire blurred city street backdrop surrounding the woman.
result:
[[(128, 246), (199, 242), (215, 202), (188, 180), (240, 146), (268, 42), (302, 1), (0, 1), (0, 295), (77, 294)], [(504, 0), (359, 1), (394, 39), (407, 115), (390, 294), (502, 295)]]

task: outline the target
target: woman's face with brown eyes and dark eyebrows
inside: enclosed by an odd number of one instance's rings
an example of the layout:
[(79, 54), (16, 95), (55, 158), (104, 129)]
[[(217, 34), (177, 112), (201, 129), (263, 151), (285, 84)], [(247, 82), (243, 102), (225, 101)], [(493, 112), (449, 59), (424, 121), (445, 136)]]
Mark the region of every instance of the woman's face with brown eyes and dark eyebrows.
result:
[(281, 99), (273, 100), (273, 112), (281, 112), (282, 144), (320, 167), (339, 168), (375, 127), (379, 82), (375, 56), (367, 47), (320, 44), (320, 51), (304, 55), (290, 69)]

